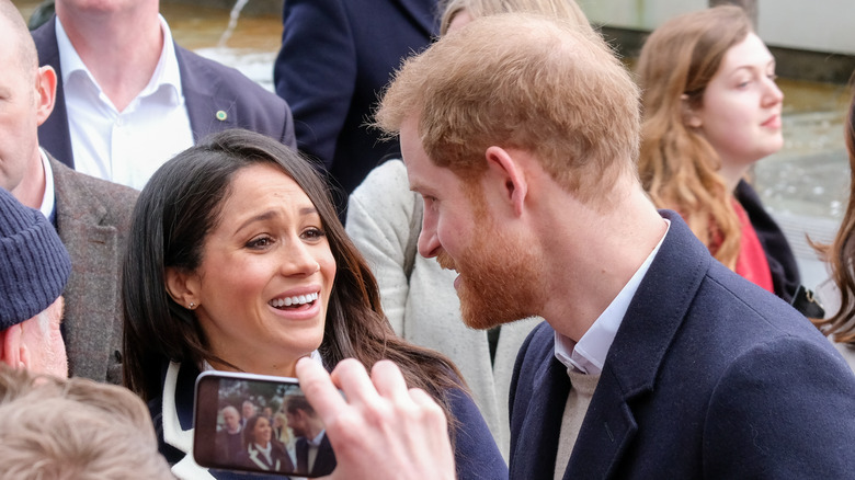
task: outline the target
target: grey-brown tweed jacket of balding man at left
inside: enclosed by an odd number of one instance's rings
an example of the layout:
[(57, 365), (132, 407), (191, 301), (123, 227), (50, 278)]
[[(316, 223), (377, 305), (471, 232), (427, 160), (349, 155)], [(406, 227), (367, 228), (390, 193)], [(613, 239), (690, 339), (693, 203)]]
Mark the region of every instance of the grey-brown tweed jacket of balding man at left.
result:
[(122, 382), (119, 271), (137, 192), (76, 172), (48, 153), (57, 232), (71, 256), (62, 334), (69, 373)]

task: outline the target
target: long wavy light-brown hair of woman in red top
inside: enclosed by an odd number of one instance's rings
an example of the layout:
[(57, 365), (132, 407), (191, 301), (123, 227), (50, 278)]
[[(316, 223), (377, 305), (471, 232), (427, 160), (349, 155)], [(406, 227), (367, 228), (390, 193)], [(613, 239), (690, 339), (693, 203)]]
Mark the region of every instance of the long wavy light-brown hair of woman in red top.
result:
[(686, 108), (699, 107), (725, 54), (752, 32), (739, 7), (680, 15), (657, 28), (638, 60), (642, 89), (641, 183), (661, 208), (686, 219), (716, 259), (733, 270), (741, 228), (711, 145), (685, 125)]

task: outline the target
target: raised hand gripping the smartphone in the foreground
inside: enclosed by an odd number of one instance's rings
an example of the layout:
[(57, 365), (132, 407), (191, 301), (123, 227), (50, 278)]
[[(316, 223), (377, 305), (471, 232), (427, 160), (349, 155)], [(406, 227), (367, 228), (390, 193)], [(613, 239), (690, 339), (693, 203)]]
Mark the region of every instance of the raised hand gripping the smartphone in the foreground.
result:
[(340, 362), (330, 376), (301, 358), (297, 377), (335, 448), (338, 468), (331, 478), (456, 477), (443, 410), (423, 390), (408, 389), (394, 363), (378, 362), (368, 378), (355, 359)]

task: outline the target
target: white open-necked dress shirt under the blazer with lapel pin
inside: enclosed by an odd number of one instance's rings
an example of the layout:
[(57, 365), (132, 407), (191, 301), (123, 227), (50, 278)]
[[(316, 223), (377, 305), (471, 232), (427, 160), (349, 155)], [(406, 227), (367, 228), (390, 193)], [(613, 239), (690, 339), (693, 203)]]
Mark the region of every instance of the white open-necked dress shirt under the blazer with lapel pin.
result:
[(160, 165), (193, 146), (172, 34), (163, 16), (160, 24), (163, 49), (155, 73), (118, 112), (57, 19), (59, 68), (77, 171), (140, 190)]

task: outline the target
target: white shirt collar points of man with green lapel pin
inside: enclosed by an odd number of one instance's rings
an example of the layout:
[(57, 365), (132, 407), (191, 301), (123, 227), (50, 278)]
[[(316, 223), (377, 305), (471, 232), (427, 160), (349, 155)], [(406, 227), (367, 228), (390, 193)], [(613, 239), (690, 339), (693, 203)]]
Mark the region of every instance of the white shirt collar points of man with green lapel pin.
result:
[[(183, 91), (178, 57), (175, 56), (175, 44), (172, 41), (172, 32), (169, 30), (167, 20), (160, 14), (158, 14), (158, 19), (160, 20), (160, 31), (163, 34), (163, 49), (160, 50), (160, 59), (151, 79), (137, 98), (148, 96), (158, 91), (162, 85), (168, 85), (171, 87), (170, 101), (178, 105), (181, 103)], [(103, 93), (95, 78), (86, 64), (83, 64), (80, 55), (78, 55), (75, 46), (71, 45), (71, 41), (68, 38), (68, 34), (58, 16), (56, 18), (56, 43), (59, 50), (59, 70), (62, 72), (62, 84), (67, 84), (72, 75), (83, 75), (98, 88), (99, 93)]]

